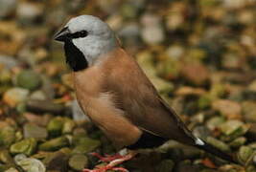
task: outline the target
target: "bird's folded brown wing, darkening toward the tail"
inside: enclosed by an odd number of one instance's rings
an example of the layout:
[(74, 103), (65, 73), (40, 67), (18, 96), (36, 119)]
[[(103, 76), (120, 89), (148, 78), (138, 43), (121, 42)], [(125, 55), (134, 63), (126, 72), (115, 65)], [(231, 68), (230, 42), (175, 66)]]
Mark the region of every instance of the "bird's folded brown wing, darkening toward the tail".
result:
[(106, 66), (105, 90), (114, 95), (116, 106), (133, 124), (162, 138), (195, 142), (195, 137), (158, 95), (132, 57), (119, 50)]

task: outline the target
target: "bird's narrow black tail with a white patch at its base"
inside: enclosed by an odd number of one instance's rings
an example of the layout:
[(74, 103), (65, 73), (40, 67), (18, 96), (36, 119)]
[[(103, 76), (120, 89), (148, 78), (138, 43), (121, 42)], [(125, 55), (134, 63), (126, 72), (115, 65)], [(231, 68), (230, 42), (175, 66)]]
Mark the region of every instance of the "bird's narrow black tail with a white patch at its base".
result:
[(217, 147), (203, 141), (200, 139), (196, 139), (196, 147), (198, 147), (199, 149), (202, 149), (206, 152), (209, 152), (219, 158), (221, 158), (224, 161), (229, 161), (232, 163), (239, 163), (234, 156), (229, 155), (227, 153), (224, 153), (223, 151), (221, 151), (220, 149), (218, 149)]

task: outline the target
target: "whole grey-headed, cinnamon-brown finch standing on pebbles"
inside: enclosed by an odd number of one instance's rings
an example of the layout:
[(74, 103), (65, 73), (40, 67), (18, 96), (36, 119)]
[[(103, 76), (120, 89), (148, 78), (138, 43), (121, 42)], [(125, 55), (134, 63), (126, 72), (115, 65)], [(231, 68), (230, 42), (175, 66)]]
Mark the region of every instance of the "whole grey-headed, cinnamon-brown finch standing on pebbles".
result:
[(225, 161), (236, 162), (192, 134), (100, 18), (74, 17), (56, 34), (55, 40), (64, 43), (81, 109), (117, 149), (131, 150), (127, 155), (116, 156), (116, 160), (108, 157), (112, 161), (104, 167), (84, 172), (128, 171), (115, 166), (134, 157), (137, 149), (157, 147), (167, 140), (196, 146)]

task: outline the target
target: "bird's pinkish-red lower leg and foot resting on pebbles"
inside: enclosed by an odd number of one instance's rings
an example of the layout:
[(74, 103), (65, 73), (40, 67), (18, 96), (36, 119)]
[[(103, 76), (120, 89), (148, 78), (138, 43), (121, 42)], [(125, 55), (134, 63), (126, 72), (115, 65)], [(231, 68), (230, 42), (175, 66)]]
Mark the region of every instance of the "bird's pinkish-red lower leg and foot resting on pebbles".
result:
[[(116, 165), (123, 163), (124, 161), (128, 161), (132, 159), (137, 152), (129, 152), (127, 155), (122, 156), (122, 158), (110, 161), (108, 164), (105, 166), (97, 167), (97, 169), (83, 169), (82, 172), (106, 172), (107, 170), (114, 170), (114, 171), (122, 171), (122, 172), (128, 172), (126, 168), (123, 167), (115, 167)], [(121, 156), (121, 155), (120, 155)]]

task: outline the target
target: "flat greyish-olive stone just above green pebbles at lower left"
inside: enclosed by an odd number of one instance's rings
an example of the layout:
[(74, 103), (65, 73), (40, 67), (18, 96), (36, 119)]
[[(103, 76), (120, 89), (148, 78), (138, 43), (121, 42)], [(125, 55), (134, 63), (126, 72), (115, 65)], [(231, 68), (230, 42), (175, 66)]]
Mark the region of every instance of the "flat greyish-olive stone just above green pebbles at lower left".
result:
[(34, 123), (26, 123), (23, 126), (24, 138), (35, 138), (44, 140), (47, 138), (47, 130), (44, 127), (40, 127)]

